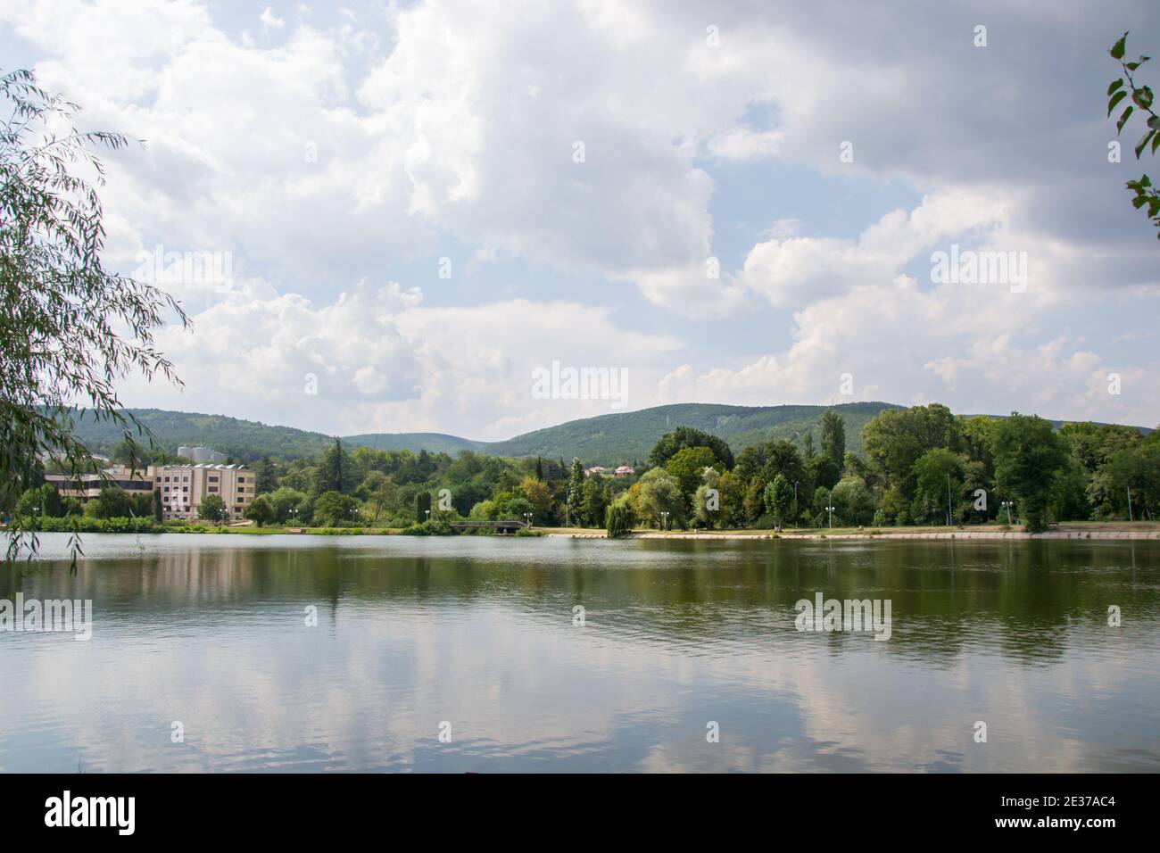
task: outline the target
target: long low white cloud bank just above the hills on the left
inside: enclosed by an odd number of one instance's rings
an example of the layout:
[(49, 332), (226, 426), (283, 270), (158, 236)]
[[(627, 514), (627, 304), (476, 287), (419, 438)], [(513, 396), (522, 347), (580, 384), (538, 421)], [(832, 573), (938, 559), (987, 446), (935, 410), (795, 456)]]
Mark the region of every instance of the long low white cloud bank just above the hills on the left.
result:
[[(612, 400), (534, 399), (534, 368), (556, 360), (624, 369), (635, 409), (654, 402), (652, 389), (680, 347), (618, 327), (606, 309), (571, 302), (421, 303), (418, 289), (361, 282), (316, 306), (246, 280), (195, 315), (193, 333), (171, 328), (160, 340), (196, 391), (135, 381), (124, 399), (182, 410), (211, 399), (215, 411), (336, 433), (506, 439), (614, 411)], [(316, 388), (317, 395), (307, 391)]]

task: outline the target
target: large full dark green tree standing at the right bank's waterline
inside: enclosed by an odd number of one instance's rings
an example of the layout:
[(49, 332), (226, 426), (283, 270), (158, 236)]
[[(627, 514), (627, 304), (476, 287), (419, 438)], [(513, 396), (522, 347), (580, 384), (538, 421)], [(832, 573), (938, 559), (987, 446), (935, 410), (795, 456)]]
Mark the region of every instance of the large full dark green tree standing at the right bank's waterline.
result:
[(1000, 494), (1015, 499), (1030, 533), (1045, 530), (1052, 479), (1066, 458), (1063, 441), (1051, 424), (1013, 412), (995, 425), (992, 454)]

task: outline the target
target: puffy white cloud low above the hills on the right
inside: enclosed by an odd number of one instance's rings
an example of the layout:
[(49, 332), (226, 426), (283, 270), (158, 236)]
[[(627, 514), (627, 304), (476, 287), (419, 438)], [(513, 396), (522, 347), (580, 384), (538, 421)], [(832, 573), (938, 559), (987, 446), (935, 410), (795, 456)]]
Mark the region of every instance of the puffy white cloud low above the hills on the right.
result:
[[(960, 413), (1160, 422), (1150, 391), (1160, 364), (1117, 366), (1067, 335), (1023, 342), (1041, 317), (1030, 291), (954, 284), (925, 291), (900, 276), (795, 313), (795, 342), (783, 353), (701, 373), (684, 366), (661, 379), (659, 396), (740, 405), (952, 400)], [(1118, 396), (1108, 392), (1110, 371), (1122, 376)], [(850, 396), (842, 393), (843, 374), (853, 379)]]

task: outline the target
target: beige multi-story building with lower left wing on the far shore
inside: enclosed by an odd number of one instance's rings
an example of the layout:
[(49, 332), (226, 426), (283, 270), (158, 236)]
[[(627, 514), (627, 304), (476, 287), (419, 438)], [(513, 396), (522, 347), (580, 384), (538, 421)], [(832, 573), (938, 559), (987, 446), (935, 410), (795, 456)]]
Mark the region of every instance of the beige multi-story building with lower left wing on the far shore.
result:
[(104, 474), (107, 479), (86, 474), (80, 483), (63, 474), (50, 474), (45, 479), (56, 484), (61, 496), (78, 498), (82, 504), (100, 496), (102, 489), (138, 493), (159, 489), (161, 514), (166, 519), (197, 518), (197, 508), (208, 494), (222, 498), (229, 516), (240, 519), (253, 503), (256, 489), (255, 474), (244, 465), (150, 465), (144, 471), (115, 465)]

